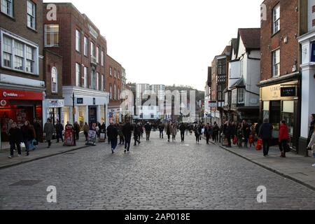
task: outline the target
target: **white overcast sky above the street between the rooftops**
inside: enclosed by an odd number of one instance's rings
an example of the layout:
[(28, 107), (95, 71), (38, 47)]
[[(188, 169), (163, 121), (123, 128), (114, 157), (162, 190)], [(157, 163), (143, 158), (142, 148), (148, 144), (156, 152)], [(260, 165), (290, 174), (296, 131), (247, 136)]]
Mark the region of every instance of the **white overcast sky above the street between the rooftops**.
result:
[(204, 90), (207, 67), (237, 28), (260, 27), (262, 0), (44, 0), (71, 2), (106, 36), (127, 82)]

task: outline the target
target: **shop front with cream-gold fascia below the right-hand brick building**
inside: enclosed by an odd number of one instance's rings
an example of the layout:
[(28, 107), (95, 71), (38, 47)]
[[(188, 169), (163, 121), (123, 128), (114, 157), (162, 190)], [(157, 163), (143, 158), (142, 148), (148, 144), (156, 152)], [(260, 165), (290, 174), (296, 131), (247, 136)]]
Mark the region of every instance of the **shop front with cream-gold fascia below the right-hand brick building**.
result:
[(280, 122), (281, 120), (286, 120), (290, 134), (290, 146), (297, 149), (300, 132), (298, 90), (298, 80), (260, 88), (260, 118), (262, 120), (267, 118), (269, 123), (272, 123), (274, 127), (272, 143), (274, 145), (278, 144)]

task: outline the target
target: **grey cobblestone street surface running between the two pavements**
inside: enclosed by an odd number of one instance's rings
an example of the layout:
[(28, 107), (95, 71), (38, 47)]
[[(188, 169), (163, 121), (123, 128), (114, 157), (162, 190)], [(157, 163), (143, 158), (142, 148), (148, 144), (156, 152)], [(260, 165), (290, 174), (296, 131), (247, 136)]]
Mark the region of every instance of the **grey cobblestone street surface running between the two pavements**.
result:
[[(108, 144), (0, 170), (0, 209), (314, 209), (315, 192), (218, 146), (152, 134), (123, 153)], [(294, 166), (294, 164), (293, 164)], [(34, 186), (16, 186), (34, 180)], [(57, 203), (48, 203), (48, 186)], [(256, 200), (267, 188), (267, 203)]]

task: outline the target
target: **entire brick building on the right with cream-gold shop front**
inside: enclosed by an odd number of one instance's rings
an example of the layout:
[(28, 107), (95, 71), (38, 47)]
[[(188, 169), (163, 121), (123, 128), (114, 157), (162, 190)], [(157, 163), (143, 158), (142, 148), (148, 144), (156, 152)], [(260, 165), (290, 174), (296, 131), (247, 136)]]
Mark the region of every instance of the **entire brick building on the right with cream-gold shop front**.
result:
[(291, 146), (298, 150), (300, 136), (300, 46), (297, 36), (304, 32), (305, 1), (265, 0), (261, 21), (260, 118), (274, 126), (274, 144), (279, 122), (286, 120)]

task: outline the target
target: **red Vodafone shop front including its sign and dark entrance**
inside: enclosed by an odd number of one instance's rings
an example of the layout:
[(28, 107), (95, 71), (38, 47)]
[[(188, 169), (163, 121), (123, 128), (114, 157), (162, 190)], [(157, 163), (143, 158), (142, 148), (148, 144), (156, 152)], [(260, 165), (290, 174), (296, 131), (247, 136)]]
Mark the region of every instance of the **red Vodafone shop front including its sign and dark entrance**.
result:
[(10, 120), (21, 127), (26, 120), (34, 118), (42, 124), (43, 92), (0, 89), (1, 141), (8, 141)]

